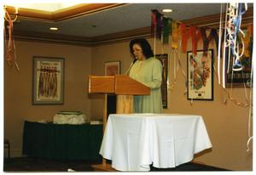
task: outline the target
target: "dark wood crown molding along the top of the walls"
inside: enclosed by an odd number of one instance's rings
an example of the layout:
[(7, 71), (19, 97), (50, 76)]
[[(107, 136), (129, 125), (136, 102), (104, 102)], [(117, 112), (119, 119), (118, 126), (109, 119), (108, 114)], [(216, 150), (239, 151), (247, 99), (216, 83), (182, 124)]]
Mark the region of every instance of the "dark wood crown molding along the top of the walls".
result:
[[(198, 27), (209, 27), (218, 28), (219, 27), (220, 14), (207, 15), (204, 17), (199, 17), (191, 20), (183, 20), (181, 22), (186, 25), (196, 25)], [(242, 16), (241, 27), (244, 25), (253, 24), (253, 8), (249, 8), (246, 14)], [(14, 31), (14, 37), (17, 40), (22, 41), (40, 41), (40, 42), (56, 42), (65, 44), (75, 44), (84, 46), (99, 46), (115, 42), (124, 42), (131, 40), (134, 37), (151, 37), (150, 36), (150, 26), (135, 29), (131, 31), (121, 31), (117, 33), (112, 33), (108, 35), (102, 35), (97, 37), (80, 37), (80, 36), (68, 36), (52, 33), (40, 33), (32, 31)]]

